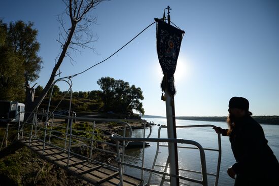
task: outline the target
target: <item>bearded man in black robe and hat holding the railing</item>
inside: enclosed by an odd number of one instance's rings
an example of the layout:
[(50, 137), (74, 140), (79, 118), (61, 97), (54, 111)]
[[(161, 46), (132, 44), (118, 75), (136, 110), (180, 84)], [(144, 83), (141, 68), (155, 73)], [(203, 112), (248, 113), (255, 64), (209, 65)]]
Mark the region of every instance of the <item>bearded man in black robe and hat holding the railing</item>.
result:
[(229, 101), (229, 129), (214, 128), (229, 136), (236, 163), (228, 168), (234, 185), (279, 185), (279, 163), (267, 144), (262, 127), (251, 116), (249, 101), (232, 97)]

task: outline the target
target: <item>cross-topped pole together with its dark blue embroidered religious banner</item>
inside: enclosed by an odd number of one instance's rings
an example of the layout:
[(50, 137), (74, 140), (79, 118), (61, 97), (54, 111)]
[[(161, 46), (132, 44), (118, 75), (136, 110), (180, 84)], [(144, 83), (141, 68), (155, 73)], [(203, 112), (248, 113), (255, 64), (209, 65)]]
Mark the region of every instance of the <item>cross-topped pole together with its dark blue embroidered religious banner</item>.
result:
[[(171, 139), (177, 138), (176, 132), (176, 116), (175, 116), (175, 77), (173, 76), (176, 71), (177, 60), (180, 52), (180, 46), (185, 31), (170, 25), (169, 6), (167, 10), (167, 21), (155, 18), (157, 22), (156, 31), (156, 44), (159, 63), (164, 73), (164, 78), (161, 83), (162, 100), (166, 101), (166, 119), (167, 119), (167, 137)], [(169, 160), (169, 173), (171, 175), (179, 175), (178, 166), (178, 152), (177, 143), (168, 143), (168, 160)], [(170, 185), (178, 186), (179, 178), (170, 176)]]

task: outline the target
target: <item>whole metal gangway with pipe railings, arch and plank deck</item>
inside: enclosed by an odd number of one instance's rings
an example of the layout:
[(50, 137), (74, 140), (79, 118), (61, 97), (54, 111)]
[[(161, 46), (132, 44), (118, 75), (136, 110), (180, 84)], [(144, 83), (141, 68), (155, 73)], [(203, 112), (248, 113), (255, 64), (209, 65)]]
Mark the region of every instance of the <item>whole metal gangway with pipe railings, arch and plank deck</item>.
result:
[[(69, 113), (68, 116), (55, 114), (57, 106), (50, 111), (50, 103), (53, 92), (53, 87), (58, 81), (66, 82), (69, 85), (68, 91), (65, 93), (62, 99), (65, 98), (66, 94), (69, 93)], [(58, 165), (65, 169), (69, 173), (76, 175), (77, 177), (84, 179), (94, 185), (150, 185), (152, 176), (154, 174), (161, 175), (161, 182), (158, 183), (163, 185), (165, 182), (169, 182), (166, 177), (178, 177), (179, 179), (187, 180), (193, 183), (201, 185), (208, 185), (207, 175), (215, 176), (215, 186), (218, 184), (220, 162), (221, 162), (221, 138), (218, 135), (218, 150), (203, 148), (199, 143), (187, 139), (171, 139), (171, 138), (160, 138), (161, 126), (159, 128), (157, 138), (149, 138), (151, 135), (151, 126), (148, 122), (144, 122), (144, 134), (141, 138), (132, 137), (131, 126), (124, 121), (115, 119), (96, 119), (89, 117), (74, 117), (70, 115), (72, 102), (72, 81), (69, 78), (61, 78), (56, 80), (51, 87), (51, 94), (49, 98), (49, 104), (46, 113), (40, 113), (38, 111), (39, 105), (36, 110), (33, 110), (29, 114), (26, 122), (18, 122), (13, 124), (12, 128), (17, 128), (16, 140), (30, 148), (33, 152), (40, 155), (41, 158), (48, 162)], [(40, 120), (39, 120), (40, 118)], [(86, 123), (90, 125), (89, 130), (77, 129), (78, 125)], [(120, 129), (123, 134), (120, 135), (110, 130), (105, 130), (102, 127), (103, 123), (113, 123), (115, 126), (121, 126)], [(9, 125), (6, 128), (6, 144), (8, 141)], [(146, 135), (146, 128), (149, 127), (149, 134)], [(189, 127), (215, 127), (214, 125), (197, 125), (197, 126), (179, 126), (178, 128), (189, 128)], [(4, 136), (5, 138), (5, 136)], [(4, 138), (2, 146), (4, 144)], [(141, 158), (125, 155), (125, 147), (127, 147), (130, 141), (141, 141), (143, 142)], [(157, 150), (154, 158), (152, 167), (145, 165), (145, 145), (144, 142), (156, 142)], [(164, 144), (163, 144), (164, 143)], [(164, 171), (157, 170), (156, 165), (157, 156), (159, 154), (159, 147), (167, 146), (165, 143), (180, 143), (190, 144), (193, 146), (178, 146), (178, 148), (191, 148), (197, 149), (200, 154), (201, 160), (201, 172), (193, 170), (182, 170), (188, 172), (198, 172), (201, 174), (202, 179), (192, 179), (182, 175), (171, 175), (167, 173), (168, 161), (164, 166)], [(1, 148), (2, 148), (1, 146)], [(108, 149), (106, 148), (108, 147)], [(78, 151), (82, 149), (83, 151)], [(1, 149), (0, 149), (1, 150)], [(216, 151), (218, 152), (218, 163), (216, 173), (207, 173), (206, 161), (204, 151)], [(102, 162), (98, 160), (96, 154), (102, 156), (111, 156), (112, 162)], [(141, 166), (136, 166), (126, 162), (127, 158), (132, 158), (135, 161), (141, 162)], [(124, 166), (141, 170), (141, 175), (132, 176), (130, 172), (125, 172)], [(161, 166), (162, 167), (162, 166)], [(148, 180), (144, 180), (144, 172), (150, 174)]]

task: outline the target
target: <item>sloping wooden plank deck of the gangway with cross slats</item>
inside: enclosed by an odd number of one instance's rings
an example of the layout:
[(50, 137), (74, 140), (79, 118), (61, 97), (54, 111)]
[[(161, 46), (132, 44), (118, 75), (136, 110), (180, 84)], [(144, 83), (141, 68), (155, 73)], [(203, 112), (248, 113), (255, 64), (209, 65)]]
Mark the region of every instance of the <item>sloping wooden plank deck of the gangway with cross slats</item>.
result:
[[(44, 148), (44, 142), (37, 139), (20, 139), (19, 141), (48, 162), (58, 165), (69, 173), (94, 185), (114, 186), (120, 182), (119, 172), (104, 165), (98, 165), (74, 155), (69, 156), (68, 160), (67, 153), (51, 146), (51, 144), (45, 144)], [(123, 185), (136, 186), (142, 184), (143, 180), (141, 179), (126, 174), (123, 175)]]

